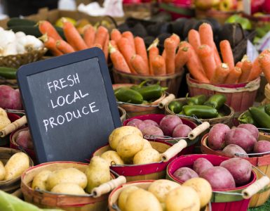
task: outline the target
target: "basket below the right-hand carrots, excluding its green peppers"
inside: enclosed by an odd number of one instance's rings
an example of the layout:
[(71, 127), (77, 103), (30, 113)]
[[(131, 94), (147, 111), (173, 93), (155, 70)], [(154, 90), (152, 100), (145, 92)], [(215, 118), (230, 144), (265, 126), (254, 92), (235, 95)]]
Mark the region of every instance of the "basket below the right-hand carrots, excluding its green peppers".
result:
[[(177, 98), (177, 99), (175, 99), (175, 101), (184, 102), (184, 101), (187, 101), (187, 99), (186, 98)], [(200, 120), (201, 122), (209, 122), (210, 127), (212, 127), (214, 124), (217, 124), (217, 123), (231, 125), (232, 124), (231, 120), (234, 117), (234, 109), (225, 104), (224, 106), (222, 106), (222, 108), (220, 108), (220, 111), (222, 113), (224, 113), (223, 117), (217, 117), (217, 118), (212, 118), (212, 119), (198, 119), (198, 120)], [(165, 106), (165, 113), (175, 115), (175, 113), (173, 113), (173, 111), (171, 111), (169, 109), (168, 104)], [(184, 117), (181, 117), (181, 118), (184, 118)], [(189, 119), (189, 120), (191, 120), (191, 119)]]

